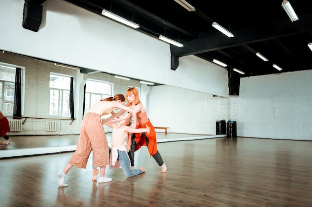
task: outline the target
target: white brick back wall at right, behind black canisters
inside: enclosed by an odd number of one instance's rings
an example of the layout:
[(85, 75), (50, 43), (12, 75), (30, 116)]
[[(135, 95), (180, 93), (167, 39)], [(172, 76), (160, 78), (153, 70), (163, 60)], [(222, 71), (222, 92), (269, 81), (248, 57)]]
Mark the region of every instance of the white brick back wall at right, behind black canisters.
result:
[(312, 140), (312, 70), (241, 78), (229, 98), (237, 136)]

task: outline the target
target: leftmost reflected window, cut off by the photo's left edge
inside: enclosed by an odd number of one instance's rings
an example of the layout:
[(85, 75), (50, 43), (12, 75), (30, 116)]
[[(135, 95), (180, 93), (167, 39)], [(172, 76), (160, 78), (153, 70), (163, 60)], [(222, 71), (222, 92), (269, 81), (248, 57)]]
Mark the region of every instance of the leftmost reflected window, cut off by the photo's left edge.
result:
[(16, 69), (0, 63), (0, 111), (13, 115)]

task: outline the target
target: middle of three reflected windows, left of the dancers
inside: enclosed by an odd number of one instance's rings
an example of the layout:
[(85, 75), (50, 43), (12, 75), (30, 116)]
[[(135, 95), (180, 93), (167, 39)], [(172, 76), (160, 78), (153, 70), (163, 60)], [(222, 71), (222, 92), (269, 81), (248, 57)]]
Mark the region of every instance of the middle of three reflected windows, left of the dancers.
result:
[(70, 117), (69, 92), (70, 77), (50, 73), (49, 115)]

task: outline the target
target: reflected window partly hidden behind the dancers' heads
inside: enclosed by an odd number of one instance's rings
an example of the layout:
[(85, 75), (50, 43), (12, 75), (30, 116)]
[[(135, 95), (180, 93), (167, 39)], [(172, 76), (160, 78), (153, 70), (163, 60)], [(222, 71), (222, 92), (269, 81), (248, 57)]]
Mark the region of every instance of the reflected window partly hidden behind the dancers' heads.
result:
[(86, 99), (84, 115), (90, 110), (91, 106), (101, 99), (113, 96), (113, 83), (87, 80), (86, 82)]

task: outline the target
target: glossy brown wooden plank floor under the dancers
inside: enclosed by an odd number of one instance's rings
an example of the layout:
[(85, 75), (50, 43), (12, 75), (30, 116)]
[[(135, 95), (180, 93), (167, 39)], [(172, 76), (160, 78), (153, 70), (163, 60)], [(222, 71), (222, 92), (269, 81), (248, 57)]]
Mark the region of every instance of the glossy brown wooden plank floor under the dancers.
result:
[(312, 207), (312, 141), (208, 138), (157, 144), (168, 171), (147, 147), (136, 152), (146, 173), (126, 178), (106, 169), (92, 182), (73, 167), (57, 186), (73, 152), (0, 159), (0, 207)]

